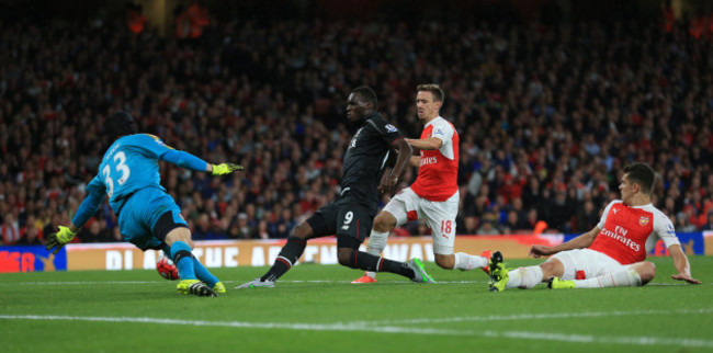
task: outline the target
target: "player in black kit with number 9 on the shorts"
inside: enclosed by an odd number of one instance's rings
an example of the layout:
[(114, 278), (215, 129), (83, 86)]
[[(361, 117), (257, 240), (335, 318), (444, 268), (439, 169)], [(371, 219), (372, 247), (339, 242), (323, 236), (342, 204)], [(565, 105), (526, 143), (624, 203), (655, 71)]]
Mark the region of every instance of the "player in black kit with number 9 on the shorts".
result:
[[(398, 175), (411, 156), (410, 145), (376, 112), (376, 94), (369, 87), (356, 88), (349, 94), (347, 118), (361, 127), (344, 156), (341, 193), (292, 229), (287, 243), (268, 273), (237, 288), (274, 287), (278, 278), (302, 257), (307, 240), (330, 235), (337, 235), (337, 258), (341, 265), (396, 273), (417, 283), (433, 282), (418, 259), (404, 263), (359, 251), (378, 210), (378, 192), (394, 193)], [(398, 150), (398, 157), (388, 178), (382, 180), (392, 147)]]

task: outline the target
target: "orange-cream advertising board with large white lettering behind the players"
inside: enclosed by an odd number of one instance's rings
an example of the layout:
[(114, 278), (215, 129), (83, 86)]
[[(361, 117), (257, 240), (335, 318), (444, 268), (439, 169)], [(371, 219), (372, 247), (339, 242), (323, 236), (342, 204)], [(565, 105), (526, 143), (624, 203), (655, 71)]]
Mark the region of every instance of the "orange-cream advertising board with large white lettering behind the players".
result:
[[(467, 236), (459, 237), (455, 251), (480, 253), (499, 249), (513, 258), (528, 255), (530, 244), (562, 242), (563, 236)], [(215, 240), (195, 241), (193, 254), (206, 267), (262, 266), (272, 264), (285, 240)], [(133, 270), (154, 269), (160, 255), (157, 251), (134, 248), (129, 243), (68, 244), (67, 270)], [(364, 247), (365, 249), (365, 247)], [(384, 250), (389, 259), (406, 261), (420, 258), (433, 261), (430, 237), (393, 237)], [(301, 263), (337, 264), (336, 238), (310, 240)]]

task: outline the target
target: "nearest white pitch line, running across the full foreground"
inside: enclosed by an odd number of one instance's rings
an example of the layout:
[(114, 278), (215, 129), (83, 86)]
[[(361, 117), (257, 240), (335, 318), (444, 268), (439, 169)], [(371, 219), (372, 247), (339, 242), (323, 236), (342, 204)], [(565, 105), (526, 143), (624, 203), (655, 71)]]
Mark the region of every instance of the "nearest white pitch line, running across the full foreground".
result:
[(310, 331), (351, 331), (375, 333), (408, 333), (431, 335), (459, 335), (482, 338), (508, 338), (535, 341), (558, 341), (573, 343), (630, 344), (630, 345), (674, 345), (688, 348), (713, 348), (713, 341), (702, 339), (680, 339), (660, 337), (596, 337), (592, 334), (571, 334), (536, 331), (491, 331), (491, 330), (449, 330), (431, 328), (410, 328), (396, 326), (364, 326), (362, 323), (281, 323), (281, 322), (246, 322), (246, 321), (203, 321), (177, 320), (161, 318), (132, 317), (76, 317), (76, 316), (43, 316), (43, 315), (0, 315), (5, 320), (45, 320), (45, 321), (91, 321), (91, 322), (131, 322), (155, 324), (181, 324), (193, 327), (227, 327), (246, 329), (284, 329)]

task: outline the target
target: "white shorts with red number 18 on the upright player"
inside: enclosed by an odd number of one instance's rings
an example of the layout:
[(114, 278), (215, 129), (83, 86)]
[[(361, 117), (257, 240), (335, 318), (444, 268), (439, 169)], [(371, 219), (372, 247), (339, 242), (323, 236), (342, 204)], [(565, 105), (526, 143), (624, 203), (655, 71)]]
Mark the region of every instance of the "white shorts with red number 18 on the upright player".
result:
[(411, 187), (401, 190), (386, 204), (384, 210), (396, 218), (396, 226), (422, 219), (433, 237), (433, 253), (452, 254), (455, 243), (455, 216), (459, 214), (460, 192), (443, 202), (426, 200)]

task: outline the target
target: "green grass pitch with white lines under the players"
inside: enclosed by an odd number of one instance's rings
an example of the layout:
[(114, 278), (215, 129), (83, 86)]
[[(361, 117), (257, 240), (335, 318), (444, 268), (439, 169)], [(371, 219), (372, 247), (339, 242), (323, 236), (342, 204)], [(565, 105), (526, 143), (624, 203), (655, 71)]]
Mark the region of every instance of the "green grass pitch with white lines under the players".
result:
[(698, 286), (652, 261), (644, 287), (503, 293), (433, 263), (438, 284), (353, 285), (360, 271), (301, 264), (276, 288), (240, 291), (267, 267), (215, 269), (217, 298), (180, 296), (156, 271), (0, 274), (0, 337), (3, 352), (713, 351), (713, 257), (690, 258)]

